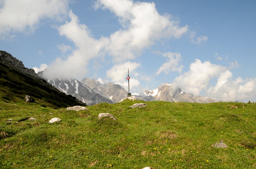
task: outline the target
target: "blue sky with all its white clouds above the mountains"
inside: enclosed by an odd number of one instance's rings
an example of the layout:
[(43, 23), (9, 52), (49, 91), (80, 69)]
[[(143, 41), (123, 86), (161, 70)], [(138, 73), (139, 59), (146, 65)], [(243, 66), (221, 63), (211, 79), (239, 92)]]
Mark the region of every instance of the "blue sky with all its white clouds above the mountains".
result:
[[(0, 0), (0, 50), (52, 78), (256, 102), (256, 1)], [(128, 90), (128, 88), (127, 88)]]

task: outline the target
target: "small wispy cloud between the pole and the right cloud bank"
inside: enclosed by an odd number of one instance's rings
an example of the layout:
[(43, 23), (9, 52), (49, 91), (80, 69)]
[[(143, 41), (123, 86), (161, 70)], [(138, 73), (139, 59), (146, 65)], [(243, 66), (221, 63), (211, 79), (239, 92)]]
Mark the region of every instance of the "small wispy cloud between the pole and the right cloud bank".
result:
[(166, 52), (162, 53), (164, 57), (167, 57), (167, 62), (165, 62), (156, 72), (156, 75), (160, 74), (161, 72), (164, 72), (165, 74), (168, 74), (170, 71), (174, 72), (177, 71), (179, 73), (182, 72), (183, 65), (179, 65), (179, 62), (181, 60), (180, 53), (171, 53)]

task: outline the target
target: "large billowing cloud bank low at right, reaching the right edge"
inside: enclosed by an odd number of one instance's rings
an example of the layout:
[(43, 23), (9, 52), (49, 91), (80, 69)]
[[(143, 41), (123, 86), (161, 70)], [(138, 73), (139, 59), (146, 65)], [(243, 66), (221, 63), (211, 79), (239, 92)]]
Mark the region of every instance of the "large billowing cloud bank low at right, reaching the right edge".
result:
[[(217, 82), (212, 85), (211, 81), (215, 78)], [(207, 97), (222, 101), (248, 102), (255, 99), (256, 95), (256, 78), (233, 78), (228, 67), (215, 65), (209, 61), (202, 63), (198, 59), (190, 64), (188, 72), (176, 77), (173, 84), (194, 95), (200, 95), (205, 91)]]

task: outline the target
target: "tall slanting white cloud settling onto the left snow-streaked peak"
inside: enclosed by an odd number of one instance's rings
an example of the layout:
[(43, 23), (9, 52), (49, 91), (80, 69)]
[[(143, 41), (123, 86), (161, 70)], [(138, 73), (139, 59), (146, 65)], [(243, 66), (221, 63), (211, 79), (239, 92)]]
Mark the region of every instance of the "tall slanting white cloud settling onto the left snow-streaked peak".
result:
[[(61, 36), (66, 36), (72, 41), (76, 49), (68, 56), (66, 60), (57, 58), (44, 71), (44, 76), (49, 78), (82, 78), (87, 73), (86, 66), (88, 61), (96, 58), (103, 46), (105, 46), (107, 39), (94, 39), (90, 34), (87, 26), (79, 23), (77, 16), (70, 11), (70, 21), (58, 27)], [(59, 46), (62, 50), (69, 50), (68, 46)]]

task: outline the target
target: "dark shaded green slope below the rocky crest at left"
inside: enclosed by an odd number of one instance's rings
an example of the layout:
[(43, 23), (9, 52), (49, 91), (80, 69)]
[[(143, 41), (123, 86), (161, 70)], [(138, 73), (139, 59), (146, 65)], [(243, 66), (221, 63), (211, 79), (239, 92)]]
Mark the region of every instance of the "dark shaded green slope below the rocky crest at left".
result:
[(24, 75), (0, 62), (0, 100), (10, 103), (25, 101), (26, 95), (41, 105), (53, 108), (83, 105), (75, 97), (60, 92), (46, 81)]

